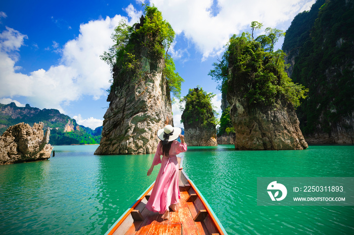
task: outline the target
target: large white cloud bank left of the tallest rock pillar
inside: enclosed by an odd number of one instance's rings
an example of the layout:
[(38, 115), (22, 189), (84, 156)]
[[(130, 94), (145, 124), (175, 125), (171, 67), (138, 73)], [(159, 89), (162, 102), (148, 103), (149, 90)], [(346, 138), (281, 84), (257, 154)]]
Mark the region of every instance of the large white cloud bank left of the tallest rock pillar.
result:
[(53, 41), (52, 47), (61, 53), (59, 65), (28, 75), (17, 73), (18, 67), (15, 66), (19, 59), (17, 51), (27, 36), (6, 27), (0, 34), (0, 98), (26, 96), (31, 106), (56, 108), (65, 113), (65, 105), (83, 95), (90, 95), (93, 99), (107, 96), (112, 75), (100, 55), (113, 44), (111, 34), (120, 20), (125, 19), (132, 25), (142, 14), (130, 5), (126, 11), (130, 22), (120, 15), (93, 20), (81, 24), (78, 37), (62, 48)]

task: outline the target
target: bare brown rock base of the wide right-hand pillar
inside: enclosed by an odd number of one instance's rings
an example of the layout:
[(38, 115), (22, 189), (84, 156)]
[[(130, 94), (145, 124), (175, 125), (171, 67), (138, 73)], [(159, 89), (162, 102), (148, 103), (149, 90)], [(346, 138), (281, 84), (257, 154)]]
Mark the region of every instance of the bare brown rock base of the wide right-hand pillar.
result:
[(275, 107), (250, 107), (230, 96), (230, 116), (235, 128), (235, 149), (285, 150), (308, 147), (299, 128), (295, 109), (278, 100)]

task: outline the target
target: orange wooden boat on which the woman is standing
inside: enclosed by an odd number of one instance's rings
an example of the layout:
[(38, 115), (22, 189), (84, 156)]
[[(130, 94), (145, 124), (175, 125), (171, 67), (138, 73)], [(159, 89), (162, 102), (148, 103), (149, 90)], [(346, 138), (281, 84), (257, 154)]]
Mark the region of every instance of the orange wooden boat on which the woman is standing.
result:
[(177, 210), (170, 211), (168, 220), (163, 220), (158, 212), (145, 208), (154, 182), (105, 234), (227, 234), (183, 168), (180, 168), (179, 174), (181, 199)]

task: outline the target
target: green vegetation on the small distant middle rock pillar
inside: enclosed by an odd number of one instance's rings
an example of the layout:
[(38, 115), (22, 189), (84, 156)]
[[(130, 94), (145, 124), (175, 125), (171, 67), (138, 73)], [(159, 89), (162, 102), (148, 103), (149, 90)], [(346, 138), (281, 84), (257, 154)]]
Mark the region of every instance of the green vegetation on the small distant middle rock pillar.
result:
[(184, 124), (185, 128), (215, 128), (217, 113), (211, 104), (211, 98), (214, 96), (214, 94), (206, 93), (199, 87), (189, 89), (188, 94), (180, 100), (181, 103), (186, 103), (181, 117), (181, 123)]

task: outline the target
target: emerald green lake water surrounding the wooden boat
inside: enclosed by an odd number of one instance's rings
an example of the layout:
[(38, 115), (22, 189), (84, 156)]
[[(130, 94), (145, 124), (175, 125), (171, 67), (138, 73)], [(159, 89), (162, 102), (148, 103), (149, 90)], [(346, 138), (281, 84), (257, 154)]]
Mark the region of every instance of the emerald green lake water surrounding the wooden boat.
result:
[[(150, 155), (55, 146), (47, 161), (0, 166), (0, 234), (103, 234), (155, 180)], [(354, 146), (301, 151), (189, 147), (184, 169), (229, 234), (353, 234), (354, 206), (257, 206), (257, 177), (354, 177)]]

